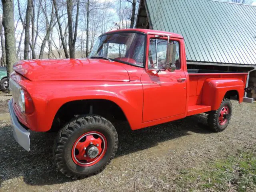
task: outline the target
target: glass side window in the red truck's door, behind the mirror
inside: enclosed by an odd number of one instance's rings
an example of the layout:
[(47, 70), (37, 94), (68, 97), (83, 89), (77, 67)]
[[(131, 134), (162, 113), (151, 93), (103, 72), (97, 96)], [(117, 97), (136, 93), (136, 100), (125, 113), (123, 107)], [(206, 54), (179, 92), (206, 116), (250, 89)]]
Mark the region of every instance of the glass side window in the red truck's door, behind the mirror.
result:
[[(178, 41), (172, 41), (176, 44), (176, 69), (180, 69), (180, 47)], [(148, 53), (148, 68), (149, 69), (165, 69), (166, 65), (166, 49), (167, 40), (164, 39), (150, 39), (149, 53)]]

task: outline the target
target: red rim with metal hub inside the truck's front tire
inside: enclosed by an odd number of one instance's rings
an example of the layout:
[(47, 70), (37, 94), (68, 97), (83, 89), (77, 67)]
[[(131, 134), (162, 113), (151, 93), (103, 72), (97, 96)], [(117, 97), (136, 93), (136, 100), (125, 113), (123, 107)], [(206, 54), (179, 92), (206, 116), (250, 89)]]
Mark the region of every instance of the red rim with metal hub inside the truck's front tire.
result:
[(71, 156), (75, 164), (88, 167), (98, 163), (106, 150), (106, 137), (100, 132), (92, 131), (83, 134), (74, 142)]

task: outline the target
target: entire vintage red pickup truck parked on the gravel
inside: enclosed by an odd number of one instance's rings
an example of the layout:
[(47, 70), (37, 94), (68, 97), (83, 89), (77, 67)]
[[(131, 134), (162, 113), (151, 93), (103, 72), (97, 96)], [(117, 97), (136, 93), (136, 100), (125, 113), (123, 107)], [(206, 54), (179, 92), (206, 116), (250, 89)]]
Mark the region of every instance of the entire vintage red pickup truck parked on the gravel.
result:
[(95, 174), (114, 158), (117, 119), (136, 130), (207, 113), (209, 127), (224, 130), (247, 78), (187, 70), (183, 37), (146, 29), (102, 34), (88, 58), (22, 60), (13, 69), (14, 138), (29, 151), (31, 131), (58, 131), (53, 156), (68, 177)]

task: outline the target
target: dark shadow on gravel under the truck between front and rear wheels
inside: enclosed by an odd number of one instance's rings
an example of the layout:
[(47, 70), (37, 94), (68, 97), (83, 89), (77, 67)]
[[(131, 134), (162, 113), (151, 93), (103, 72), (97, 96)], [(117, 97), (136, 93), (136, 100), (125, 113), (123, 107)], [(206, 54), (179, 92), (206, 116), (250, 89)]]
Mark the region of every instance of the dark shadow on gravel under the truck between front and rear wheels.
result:
[(116, 157), (151, 148), (166, 140), (190, 135), (189, 131), (198, 134), (212, 133), (207, 127), (204, 114), (135, 131), (130, 129), (128, 122), (123, 122), (122, 125), (114, 124), (114, 126), (117, 127), (119, 140)]

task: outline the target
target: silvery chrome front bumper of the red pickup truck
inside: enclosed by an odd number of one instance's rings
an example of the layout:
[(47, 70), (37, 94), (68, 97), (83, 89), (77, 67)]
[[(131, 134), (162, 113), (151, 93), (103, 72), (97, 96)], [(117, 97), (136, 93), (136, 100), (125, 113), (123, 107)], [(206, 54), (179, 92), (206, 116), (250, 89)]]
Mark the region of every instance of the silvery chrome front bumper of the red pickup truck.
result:
[(12, 132), (15, 140), (22, 146), (25, 150), (30, 150), (30, 132), (26, 130), (19, 122), (13, 110), (12, 99), (8, 103), (9, 111), (11, 115), (11, 126)]

